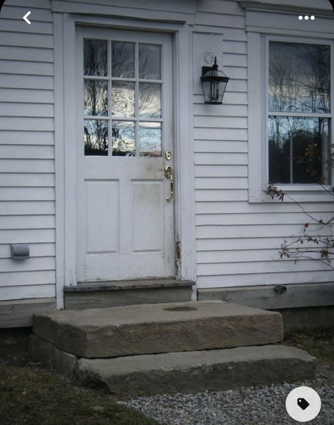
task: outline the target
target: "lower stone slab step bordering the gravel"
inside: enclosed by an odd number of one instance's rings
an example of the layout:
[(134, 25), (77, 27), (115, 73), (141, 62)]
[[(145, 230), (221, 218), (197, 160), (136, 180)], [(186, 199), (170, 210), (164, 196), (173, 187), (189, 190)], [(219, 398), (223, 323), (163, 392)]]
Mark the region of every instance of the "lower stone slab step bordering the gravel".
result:
[(286, 345), (86, 359), (32, 335), (30, 353), (70, 379), (120, 398), (302, 381), (314, 375), (316, 365), (315, 357)]

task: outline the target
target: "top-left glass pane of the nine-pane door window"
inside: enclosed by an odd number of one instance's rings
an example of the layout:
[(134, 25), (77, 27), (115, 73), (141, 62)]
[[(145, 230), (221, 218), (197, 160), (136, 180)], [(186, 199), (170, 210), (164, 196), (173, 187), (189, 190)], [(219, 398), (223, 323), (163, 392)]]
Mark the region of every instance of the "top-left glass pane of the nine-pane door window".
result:
[(108, 74), (106, 41), (84, 40), (84, 74), (102, 77)]

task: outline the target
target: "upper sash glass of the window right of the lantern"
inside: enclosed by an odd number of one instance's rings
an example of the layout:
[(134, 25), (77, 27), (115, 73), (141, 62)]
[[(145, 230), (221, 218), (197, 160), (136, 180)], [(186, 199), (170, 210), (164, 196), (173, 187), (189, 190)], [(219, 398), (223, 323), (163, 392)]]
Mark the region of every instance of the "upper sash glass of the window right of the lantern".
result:
[(269, 110), (330, 113), (330, 46), (269, 43)]

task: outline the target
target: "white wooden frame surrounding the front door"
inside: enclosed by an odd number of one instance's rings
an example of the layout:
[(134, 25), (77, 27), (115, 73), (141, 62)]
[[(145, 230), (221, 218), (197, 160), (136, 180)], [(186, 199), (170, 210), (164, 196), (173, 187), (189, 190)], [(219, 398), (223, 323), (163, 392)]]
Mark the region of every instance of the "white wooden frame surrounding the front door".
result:
[[(175, 241), (180, 242), (177, 279), (196, 280), (194, 146), (192, 113), (192, 30), (185, 23), (54, 13), (54, 103), (56, 167), (56, 296), (76, 277), (75, 26), (173, 34)], [(180, 166), (182, 164), (182, 167)]]

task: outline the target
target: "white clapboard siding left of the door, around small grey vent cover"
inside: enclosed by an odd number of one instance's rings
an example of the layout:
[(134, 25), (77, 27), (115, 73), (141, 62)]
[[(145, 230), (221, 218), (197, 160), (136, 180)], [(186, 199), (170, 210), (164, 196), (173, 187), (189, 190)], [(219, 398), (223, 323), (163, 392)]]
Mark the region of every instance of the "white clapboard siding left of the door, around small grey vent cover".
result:
[[(31, 11), (32, 25), (22, 20)], [(0, 20), (0, 300), (55, 296), (51, 1), (7, 0)], [(11, 259), (11, 243), (30, 258)]]

